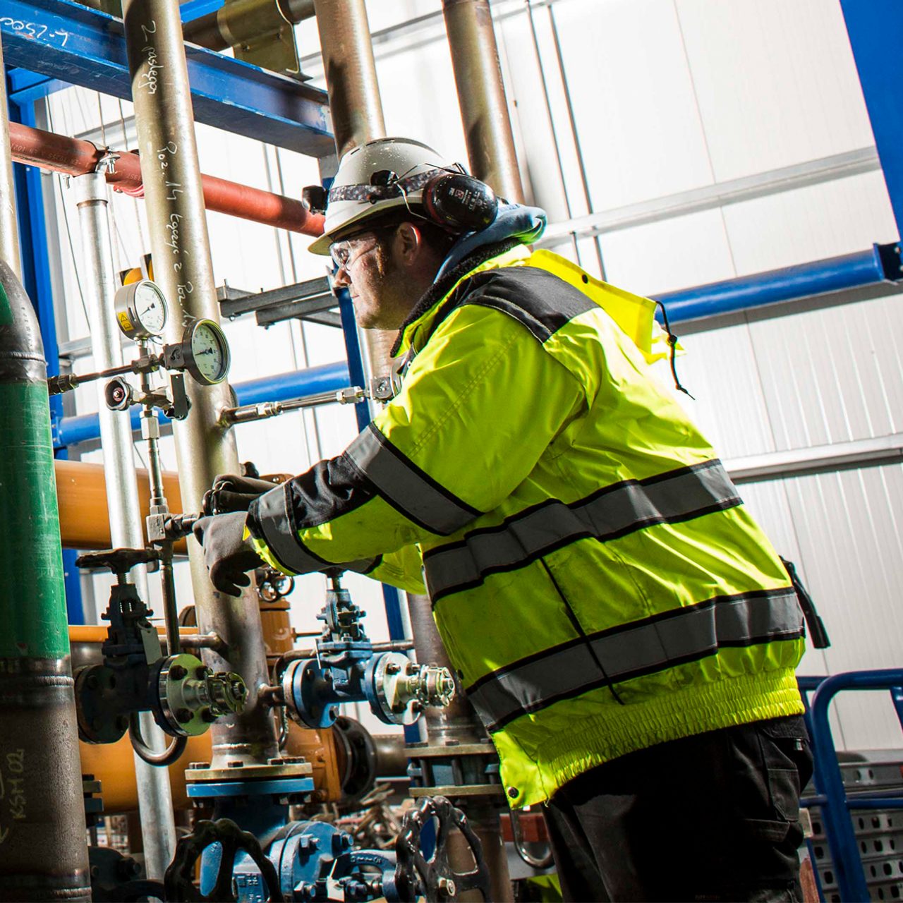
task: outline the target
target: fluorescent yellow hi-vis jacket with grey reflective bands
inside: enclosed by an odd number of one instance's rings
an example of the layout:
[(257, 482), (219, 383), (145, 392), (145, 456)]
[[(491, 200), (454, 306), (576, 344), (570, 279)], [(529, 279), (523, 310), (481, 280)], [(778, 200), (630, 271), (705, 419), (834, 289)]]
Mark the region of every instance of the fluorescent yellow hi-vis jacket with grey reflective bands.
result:
[(489, 253), (414, 310), (410, 368), (368, 428), (257, 500), (258, 552), (413, 592), (423, 573), (514, 806), (637, 749), (803, 712), (796, 596), (650, 372), (652, 303), (547, 251)]

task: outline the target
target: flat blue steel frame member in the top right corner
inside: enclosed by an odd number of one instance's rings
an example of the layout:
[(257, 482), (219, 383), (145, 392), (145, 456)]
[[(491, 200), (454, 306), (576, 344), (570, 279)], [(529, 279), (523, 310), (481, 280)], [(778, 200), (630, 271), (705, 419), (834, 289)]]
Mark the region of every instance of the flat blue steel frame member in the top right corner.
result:
[(841, 0), (890, 204), (903, 236), (903, 4)]

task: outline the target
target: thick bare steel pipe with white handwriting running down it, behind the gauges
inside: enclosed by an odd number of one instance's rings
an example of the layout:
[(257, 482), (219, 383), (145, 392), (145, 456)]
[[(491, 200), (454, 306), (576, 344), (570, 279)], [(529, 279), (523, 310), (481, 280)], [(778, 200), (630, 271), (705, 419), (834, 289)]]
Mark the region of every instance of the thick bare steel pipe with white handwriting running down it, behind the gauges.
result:
[[(126, 0), (123, 17), (154, 275), (172, 306), (166, 339), (175, 341), (191, 318), (219, 321), (182, 22), (175, 0)], [(189, 396), (191, 413), (173, 424), (173, 433), (182, 503), (198, 511), (218, 473), (238, 472), (238, 456), (233, 435), (219, 427), (219, 411), (230, 404), (228, 386), (191, 385)], [(200, 631), (226, 641), (228, 668), (209, 650), (204, 658), (216, 671), (237, 671), (249, 690), (245, 712), (210, 729), (213, 765), (265, 763), (277, 750), (273, 719), (256, 702), (267, 682), (256, 591), (251, 587), (241, 598), (214, 591), (193, 538), (189, 559)]]

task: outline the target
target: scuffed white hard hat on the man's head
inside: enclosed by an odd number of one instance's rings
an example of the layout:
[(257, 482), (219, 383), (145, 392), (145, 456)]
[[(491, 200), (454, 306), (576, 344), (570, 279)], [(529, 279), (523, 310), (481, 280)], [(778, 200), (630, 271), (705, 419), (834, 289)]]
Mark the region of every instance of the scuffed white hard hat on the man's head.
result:
[[(329, 254), (330, 245), (340, 235), (387, 210), (419, 204), (424, 184), (442, 170), (461, 172), (432, 147), (410, 138), (377, 138), (360, 144), (339, 163), (326, 207), (323, 234), (308, 250)], [(437, 172), (438, 171), (438, 172)]]

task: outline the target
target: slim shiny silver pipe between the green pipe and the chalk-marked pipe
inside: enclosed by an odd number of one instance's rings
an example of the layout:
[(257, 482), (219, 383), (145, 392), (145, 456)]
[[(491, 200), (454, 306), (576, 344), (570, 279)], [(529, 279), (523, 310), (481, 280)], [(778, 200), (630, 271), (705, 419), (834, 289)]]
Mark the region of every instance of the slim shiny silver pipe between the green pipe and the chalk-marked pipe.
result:
[[(94, 366), (98, 370), (120, 367), (123, 354), (114, 309), (116, 281), (107, 210), (107, 180), (103, 172), (88, 172), (70, 180), (70, 186), (79, 209), (83, 255), (80, 279), (88, 305)], [(97, 383), (110, 539), (114, 546), (140, 548), (144, 545), (144, 525), (138, 501), (132, 423), (127, 411), (111, 411), (107, 407), (104, 385), (102, 380)], [(132, 575), (138, 593), (142, 599), (148, 599), (147, 569), (144, 565), (136, 567)], [(144, 719), (142, 734), (148, 743), (156, 740), (154, 745), (163, 747), (163, 731), (154, 724), (153, 718)], [(149, 765), (137, 753), (133, 755), (147, 876), (160, 880), (175, 852), (169, 771)]]

